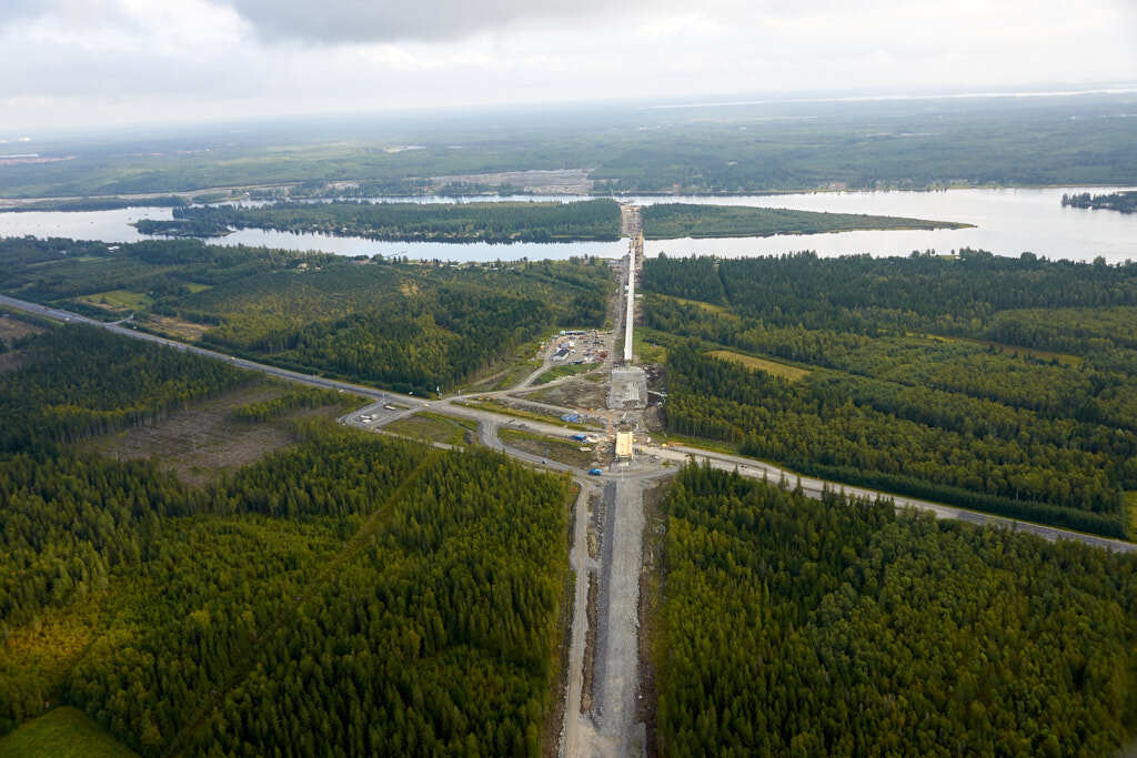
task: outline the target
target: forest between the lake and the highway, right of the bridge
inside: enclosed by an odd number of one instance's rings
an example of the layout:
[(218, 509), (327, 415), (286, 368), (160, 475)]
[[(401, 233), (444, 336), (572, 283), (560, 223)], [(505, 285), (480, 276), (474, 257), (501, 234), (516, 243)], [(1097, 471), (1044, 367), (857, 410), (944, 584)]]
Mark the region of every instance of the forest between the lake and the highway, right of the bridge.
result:
[[(1137, 267), (799, 255), (661, 258), (644, 278), (667, 295), (645, 314), (671, 345), (672, 430), (839, 481), (1131, 530)], [(706, 355), (723, 345), (812, 370)]]

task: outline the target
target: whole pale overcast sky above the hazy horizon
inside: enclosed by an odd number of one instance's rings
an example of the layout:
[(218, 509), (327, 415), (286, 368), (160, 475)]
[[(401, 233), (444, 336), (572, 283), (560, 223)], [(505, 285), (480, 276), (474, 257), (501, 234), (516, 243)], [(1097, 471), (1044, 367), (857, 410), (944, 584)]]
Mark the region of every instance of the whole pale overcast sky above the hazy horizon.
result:
[(1137, 0), (0, 0), (0, 128), (1137, 82)]

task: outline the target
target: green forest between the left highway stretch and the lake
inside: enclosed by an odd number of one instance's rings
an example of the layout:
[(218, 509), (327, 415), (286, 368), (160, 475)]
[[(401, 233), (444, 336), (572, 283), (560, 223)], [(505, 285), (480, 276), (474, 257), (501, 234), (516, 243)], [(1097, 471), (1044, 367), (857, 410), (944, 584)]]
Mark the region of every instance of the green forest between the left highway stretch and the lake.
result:
[[(451, 267), (217, 248), (0, 241), (0, 289), (88, 315), (128, 293), (146, 328), (305, 372), (400, 391), (455, 386), (553, 326), (600, 326), (600, 260)], [(152, 316), (152, 320), (147, 320)]]

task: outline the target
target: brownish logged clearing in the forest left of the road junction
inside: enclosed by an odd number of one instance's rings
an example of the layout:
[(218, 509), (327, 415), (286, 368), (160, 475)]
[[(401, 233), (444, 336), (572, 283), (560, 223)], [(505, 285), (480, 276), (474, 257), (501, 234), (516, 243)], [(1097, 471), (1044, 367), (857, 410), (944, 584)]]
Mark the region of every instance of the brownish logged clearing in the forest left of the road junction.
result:
[(312, 415), (334, 417), (340, 411), (338, 407), (299, 409), (262, 423), (231, 416), (241, 406), (273, 400), (288, 391), (285, 384), (258, 382), (180, 410), (153, 426), (93, 438), (82, 447), (119, 460), (151, 458), (186, 484), (204, 485), (222, 472), (251, 464), (297, 442), (290, 419)]

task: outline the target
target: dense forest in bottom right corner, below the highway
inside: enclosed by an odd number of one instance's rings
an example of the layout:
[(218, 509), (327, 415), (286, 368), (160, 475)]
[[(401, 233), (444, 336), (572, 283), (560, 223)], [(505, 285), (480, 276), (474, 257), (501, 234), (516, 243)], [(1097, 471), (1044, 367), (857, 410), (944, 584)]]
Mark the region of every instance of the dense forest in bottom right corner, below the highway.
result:
[(688, 467), (670, 756), (1102, 756), (1137, 734), (1137, 558)]

